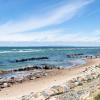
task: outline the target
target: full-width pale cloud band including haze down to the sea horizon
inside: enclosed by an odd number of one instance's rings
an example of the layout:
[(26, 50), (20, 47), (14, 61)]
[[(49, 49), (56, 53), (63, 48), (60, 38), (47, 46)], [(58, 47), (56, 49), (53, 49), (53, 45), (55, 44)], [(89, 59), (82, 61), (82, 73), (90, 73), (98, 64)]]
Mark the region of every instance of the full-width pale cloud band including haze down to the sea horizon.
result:
[[(1, 35), (0, 46), (96, 46), (100, 44), (100, 34), (96, 31), (85, 33), (65, 32), (62, 29), (40, 32), (26, 32)], [(92, 33), (92, 34), (91, 34)]]

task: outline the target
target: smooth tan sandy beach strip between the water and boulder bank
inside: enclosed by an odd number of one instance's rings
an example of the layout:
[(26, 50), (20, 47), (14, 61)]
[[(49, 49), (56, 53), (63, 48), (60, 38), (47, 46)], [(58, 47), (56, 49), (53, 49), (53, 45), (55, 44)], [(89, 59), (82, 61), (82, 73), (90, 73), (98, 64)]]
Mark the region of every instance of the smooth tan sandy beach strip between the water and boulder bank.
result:
[(86, 64), (69, 69), (54, 69), (47, 71), (48, 75), (35, 80), (15, 84), (0, 91), (0, 100), (18, 100), (19, 97), (31, 92), (40, 92), (53, 85), (59, 85), (78, 76), (87, 67), (100, 64), (100, 58), (87, 59)]

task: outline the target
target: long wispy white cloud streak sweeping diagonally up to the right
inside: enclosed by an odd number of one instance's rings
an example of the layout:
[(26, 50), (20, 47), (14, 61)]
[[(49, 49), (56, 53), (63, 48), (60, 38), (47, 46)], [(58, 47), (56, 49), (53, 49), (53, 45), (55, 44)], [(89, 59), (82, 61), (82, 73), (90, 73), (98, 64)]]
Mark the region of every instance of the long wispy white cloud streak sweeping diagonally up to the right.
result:
[(76, 0), (76, 2), (70, 2), (60, 7), (55, 7), (53, 10), (48, 11), (42, 16), (37, 18), (31, 17), (25, 20), (8, 21), (3, 25), (0, 25), (0, 34), (14, 34), (21, 33), (29, 30), (35, 30), (51, 25), (61, 24), (64, 21), (73, 18), (78, 11), (90, 4), (94, 0)]

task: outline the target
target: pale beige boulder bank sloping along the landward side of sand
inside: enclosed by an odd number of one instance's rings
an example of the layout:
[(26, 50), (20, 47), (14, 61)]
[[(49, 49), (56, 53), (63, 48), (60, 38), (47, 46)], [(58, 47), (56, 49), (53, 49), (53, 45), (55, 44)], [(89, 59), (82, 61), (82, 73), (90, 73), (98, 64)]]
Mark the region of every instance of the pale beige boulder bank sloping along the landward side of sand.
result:
[[(100, 65), (90, 66), (77, 77), (63, 84), (52, 86), (41, 92), (32, 92), (29, 95), (22, 96), (20, 100), (84, 100), (98, 83), (100, 83)], [(86, 84), (88, 84), (87, 87), (84, 86)], [(77, 89), (78, 87), (81, 87), (81, 89)]]

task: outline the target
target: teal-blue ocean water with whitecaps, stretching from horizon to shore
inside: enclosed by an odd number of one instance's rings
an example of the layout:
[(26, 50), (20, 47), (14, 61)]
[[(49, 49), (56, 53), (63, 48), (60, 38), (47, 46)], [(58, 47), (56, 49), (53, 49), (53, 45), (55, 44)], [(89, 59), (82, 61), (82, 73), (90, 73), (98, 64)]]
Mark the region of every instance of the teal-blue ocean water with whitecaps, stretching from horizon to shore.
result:
[[(100, 54), (99, 47), (0, 47), (0, 69), (10, 70), (32, 65), (43, 64), (69, 67), (85, 63), (80, 58), (67, 58), (67, 54), (83, 53), (84, 55)], [(46, 60), (34, 60), (12, 63), (16, 59), (31, 57), (48, 57)]]

